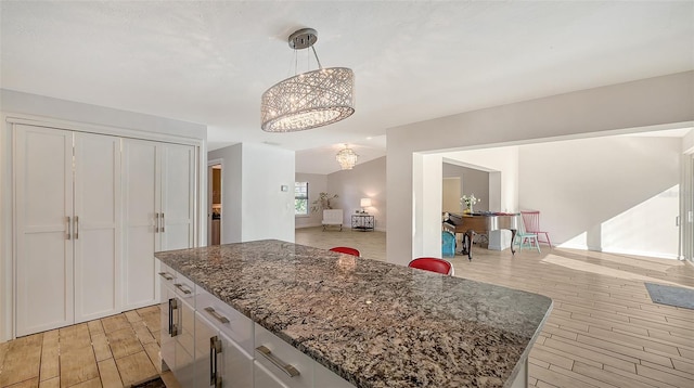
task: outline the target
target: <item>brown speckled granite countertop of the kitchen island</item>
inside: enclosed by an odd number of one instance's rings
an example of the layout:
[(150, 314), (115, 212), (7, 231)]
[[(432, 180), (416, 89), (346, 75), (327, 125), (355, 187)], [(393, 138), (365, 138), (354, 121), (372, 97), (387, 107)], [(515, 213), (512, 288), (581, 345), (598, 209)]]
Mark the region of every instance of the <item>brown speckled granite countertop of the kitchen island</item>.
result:
[(525, 387), (552, 306), (537, 294), (281, 241), (155, 257), (356, 387)]

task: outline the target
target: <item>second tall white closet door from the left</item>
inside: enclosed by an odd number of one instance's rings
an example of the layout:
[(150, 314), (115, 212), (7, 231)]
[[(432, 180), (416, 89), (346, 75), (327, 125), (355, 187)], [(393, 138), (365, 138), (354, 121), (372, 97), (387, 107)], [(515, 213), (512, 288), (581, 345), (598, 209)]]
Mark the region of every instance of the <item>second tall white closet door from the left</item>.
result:
[(120, 139), (75, 133), (75, 321), (120, 312)]

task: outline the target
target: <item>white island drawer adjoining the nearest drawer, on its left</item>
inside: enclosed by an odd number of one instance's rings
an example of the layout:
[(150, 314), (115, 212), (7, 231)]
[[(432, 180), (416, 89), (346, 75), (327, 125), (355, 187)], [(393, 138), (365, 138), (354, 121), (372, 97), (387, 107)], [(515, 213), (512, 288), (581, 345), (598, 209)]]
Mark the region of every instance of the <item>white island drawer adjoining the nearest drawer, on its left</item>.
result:
[(195, 306), (196, 310), (214, 322), (220, 332), (253, 357), (253, 321), (202, 287), (197, 288)]

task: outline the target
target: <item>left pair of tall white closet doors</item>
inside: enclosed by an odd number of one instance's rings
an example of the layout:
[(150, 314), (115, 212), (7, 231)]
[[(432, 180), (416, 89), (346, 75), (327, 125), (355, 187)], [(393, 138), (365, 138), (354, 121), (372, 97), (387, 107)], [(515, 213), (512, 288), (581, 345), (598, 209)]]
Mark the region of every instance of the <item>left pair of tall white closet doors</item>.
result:
[(119, 312), (120, 139), (14, 133), (16, 335)]

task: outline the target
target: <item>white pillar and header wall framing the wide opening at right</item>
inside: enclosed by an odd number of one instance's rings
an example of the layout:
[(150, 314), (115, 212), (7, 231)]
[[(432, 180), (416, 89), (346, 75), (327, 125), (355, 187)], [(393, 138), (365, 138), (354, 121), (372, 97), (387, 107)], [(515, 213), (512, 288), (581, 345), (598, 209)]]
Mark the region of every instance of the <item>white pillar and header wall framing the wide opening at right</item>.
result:
[(423, 176), (416, 170), (423, 160), (414, 153), (691, 127), (693, 82), (694, 72), (685, 72), (389, 128), (387, 260), (407, 264), (432, 244), (421, 233), (432, 218), (416, 216), (430, 206), (436, 210), (426, 212), (440, 211), (440, 193), (435, 204), (415, 196), (423, 181), (413, 177)]

